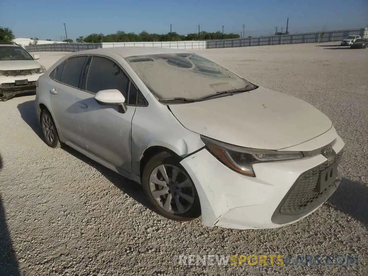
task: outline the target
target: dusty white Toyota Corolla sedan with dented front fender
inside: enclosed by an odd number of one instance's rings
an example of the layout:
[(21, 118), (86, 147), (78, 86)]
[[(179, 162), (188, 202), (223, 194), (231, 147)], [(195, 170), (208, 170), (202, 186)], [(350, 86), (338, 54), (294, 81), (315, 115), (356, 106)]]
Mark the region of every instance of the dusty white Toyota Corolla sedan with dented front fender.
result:
[(67, 54), (39, 78), (35, 105), (47, 145), (138, 182), (172, 220), (281, 227), (341, 181), (344, 142), (322, 112), (183, 50)]

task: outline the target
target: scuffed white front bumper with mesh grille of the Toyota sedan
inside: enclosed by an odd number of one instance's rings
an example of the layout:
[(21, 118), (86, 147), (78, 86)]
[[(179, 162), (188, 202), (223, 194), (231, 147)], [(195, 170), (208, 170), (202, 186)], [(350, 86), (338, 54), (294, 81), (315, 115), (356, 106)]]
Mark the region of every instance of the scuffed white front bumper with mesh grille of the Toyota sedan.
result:
[[(344, 142), (337, 137), (333, 146), (337, 156), (342, 155), (343, 146)], [(339, 161), (336, 158), (332, 162)], [(202, 225), (208, 227), (272, 229), (295, 223), (318, 209), (341, 181), (338, 173), (326, 191), (314, 191), (320, 171), (331, 166), (322, 155), (257, 163), (253, 167), (256, 177), (234, 172), (206, 149), (180, 163), (195, 184), (201, 202)]]

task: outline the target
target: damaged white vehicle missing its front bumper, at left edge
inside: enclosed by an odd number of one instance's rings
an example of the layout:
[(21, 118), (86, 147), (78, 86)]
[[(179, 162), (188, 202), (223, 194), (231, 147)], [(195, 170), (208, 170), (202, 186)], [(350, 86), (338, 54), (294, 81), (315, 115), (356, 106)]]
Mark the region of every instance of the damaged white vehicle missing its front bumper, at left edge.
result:
[(0, 42), (0, 100), (36, 92), (36, 81), (46, 72), (36, 59), (38, 55), (32, 56), (17, 43)]

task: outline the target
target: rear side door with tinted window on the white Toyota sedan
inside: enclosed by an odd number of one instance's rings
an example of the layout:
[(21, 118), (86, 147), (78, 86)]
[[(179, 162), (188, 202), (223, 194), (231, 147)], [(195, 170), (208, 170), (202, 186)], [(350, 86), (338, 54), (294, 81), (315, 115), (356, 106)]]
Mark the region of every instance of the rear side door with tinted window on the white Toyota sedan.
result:
[(77, 120), (77, 92), (81, 71), (87, 56), (70, 57), (61, 63), (50, 81), (50, 106), (61, 135), (81, 146), (81, 131)]

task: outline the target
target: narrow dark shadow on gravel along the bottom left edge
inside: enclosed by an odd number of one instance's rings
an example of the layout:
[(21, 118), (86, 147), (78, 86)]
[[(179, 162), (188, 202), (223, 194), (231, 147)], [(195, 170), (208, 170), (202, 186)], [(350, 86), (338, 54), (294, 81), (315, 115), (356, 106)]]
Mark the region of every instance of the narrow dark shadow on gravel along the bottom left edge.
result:
[[(0, 156), (0, 171), (2, 161)], [(17, 257), (13, 249), (6, 223), (5, 209), (0, 195), (0, 275), (18, 276), (20, 275)]]

